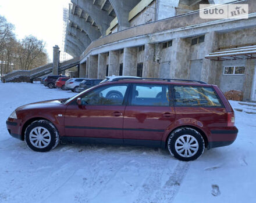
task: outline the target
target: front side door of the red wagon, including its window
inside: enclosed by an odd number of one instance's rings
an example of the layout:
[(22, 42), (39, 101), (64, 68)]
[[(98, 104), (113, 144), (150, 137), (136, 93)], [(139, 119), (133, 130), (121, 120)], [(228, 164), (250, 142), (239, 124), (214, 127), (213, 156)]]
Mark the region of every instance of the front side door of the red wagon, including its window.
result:
[[(69, 104), (65, 113), (66, 136), (93, 137), (123, 143), (126, 84), (99, 86), (81, 95), (81, 105)], [(108, 140), (106, 140), (108, 139)]]

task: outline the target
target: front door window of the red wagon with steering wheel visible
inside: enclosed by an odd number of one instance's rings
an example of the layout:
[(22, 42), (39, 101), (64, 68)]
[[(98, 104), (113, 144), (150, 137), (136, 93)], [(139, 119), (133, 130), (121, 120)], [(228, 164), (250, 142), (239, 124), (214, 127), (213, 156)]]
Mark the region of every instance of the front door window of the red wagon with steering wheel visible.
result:
[(83, 105), (121, 106), (127, 85), (108, 85), (94, 89), (81, 97)]

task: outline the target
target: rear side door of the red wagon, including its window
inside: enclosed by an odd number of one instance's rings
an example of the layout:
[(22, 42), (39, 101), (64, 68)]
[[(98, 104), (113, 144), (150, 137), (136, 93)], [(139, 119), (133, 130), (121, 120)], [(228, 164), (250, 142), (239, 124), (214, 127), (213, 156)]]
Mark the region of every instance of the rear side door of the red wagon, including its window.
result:
[(160, 146), (163, 133), (174, 121), (168, 85), (132, 85), (123, 123), (125, 143)]

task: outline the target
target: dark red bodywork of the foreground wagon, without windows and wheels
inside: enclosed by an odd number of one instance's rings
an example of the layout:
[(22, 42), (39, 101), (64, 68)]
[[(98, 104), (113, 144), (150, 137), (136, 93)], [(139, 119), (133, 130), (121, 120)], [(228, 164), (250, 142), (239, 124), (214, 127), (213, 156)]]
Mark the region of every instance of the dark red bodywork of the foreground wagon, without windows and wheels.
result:
[[(238, 130), (227, 126), (227, 113), (233, 109), (215, 85), (160, 81), (119, 81), (113, 84), (152, 83), (169, 85), (208, 86), (215, 89), (223, 107), (169, 107), (155, 106), (78, 106), (74, 97), (67, 104), (61, 100), (49, 100), (27, 104), (17, 108), (17, 119), (8, 118), (6, 125), (10, 135), (24, 140), (24, 129), (34, 119), (48, 119), (58, 129), (61, 139), (73, 142), (73, 138), (109, 139), (111, 142), (132, 144), (154, 143), (166, 146), (170, 133), (180, 127), (190, 126), (201, 132), (208, 148), (226, 146), (234, 142)], [(109, 85), (110, 82), (97, 85)], [(87, 91), (83, 92), (85, 94)], [(172, 100), (172, 98), (171, 98)], [(71, 138), (70, 138), (71, 137)], [(113, 141), (115, 140), (115, 141)], [(149, 144), (151, 145), (151, 144)]]

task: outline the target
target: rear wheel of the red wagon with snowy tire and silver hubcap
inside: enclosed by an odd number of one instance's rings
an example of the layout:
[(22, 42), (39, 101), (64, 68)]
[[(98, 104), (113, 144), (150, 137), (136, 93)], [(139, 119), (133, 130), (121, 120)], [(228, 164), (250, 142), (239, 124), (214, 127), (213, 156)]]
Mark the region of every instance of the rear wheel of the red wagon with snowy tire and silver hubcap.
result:
[(193, 128), (176, 129), (168, 138), (168, 150), (180, 161), (193, 161), (204, 153), (204, 139)]

